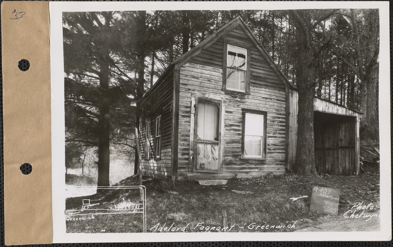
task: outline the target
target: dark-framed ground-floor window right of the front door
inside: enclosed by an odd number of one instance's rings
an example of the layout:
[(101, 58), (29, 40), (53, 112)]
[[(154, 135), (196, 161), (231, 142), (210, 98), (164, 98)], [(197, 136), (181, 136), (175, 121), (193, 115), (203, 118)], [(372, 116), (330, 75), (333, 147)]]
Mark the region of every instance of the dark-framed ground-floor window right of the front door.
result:
[(266, 158), (266, 112), (243, 111), (242, 156)]

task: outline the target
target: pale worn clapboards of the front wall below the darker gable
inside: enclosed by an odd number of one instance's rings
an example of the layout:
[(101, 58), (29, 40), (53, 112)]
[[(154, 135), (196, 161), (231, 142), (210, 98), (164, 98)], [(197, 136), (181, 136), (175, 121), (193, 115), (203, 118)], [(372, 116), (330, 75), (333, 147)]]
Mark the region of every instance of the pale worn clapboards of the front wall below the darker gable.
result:
[[(265, 82), (268, 83), (268, 82)], [(212, 176), (250, 176), (267, 172), (285, 172), (285, 88), (282, 90), (250, 85), (250, 95), (222, 90), (222, 69), (198, 63), (186, 63), (180, 68), (179, 102), (179, 176), (206, 176), (189, 171), (191, 97), (198, 92), (210, 98), (222, 98), (224, 102), (224, 129), (222, 173)], [(241, 158), (242, 110), (267, 112), (266, 160)]]

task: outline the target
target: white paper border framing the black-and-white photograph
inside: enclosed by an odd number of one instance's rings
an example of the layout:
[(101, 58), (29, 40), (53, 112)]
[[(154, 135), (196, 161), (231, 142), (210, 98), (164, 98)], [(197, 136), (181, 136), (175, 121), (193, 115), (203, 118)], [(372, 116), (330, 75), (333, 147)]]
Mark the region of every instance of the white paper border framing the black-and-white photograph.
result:
[[(389, 2), (50, 2), (52, 217), (53, 243), (167, 242), (167, 241), (387, 241), (391, 240), (390, 53)], [(378, 8), (380, 13), (379, 130), (380, 224), (379, 232), (196, 232), (196, 233), (66, 233), (64, 220), (64, 64), (62, 12), (136, 11), (176, 9), (330, 9)]]

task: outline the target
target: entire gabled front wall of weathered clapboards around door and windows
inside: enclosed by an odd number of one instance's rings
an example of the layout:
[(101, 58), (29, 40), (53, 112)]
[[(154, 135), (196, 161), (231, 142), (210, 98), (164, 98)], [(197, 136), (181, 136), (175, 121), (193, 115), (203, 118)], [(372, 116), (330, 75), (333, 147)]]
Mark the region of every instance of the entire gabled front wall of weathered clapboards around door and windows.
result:
[[(250, 48), (250, 95), (222, 91), (224, 42), (235, 42)], [(216, 176), (229, 178), (235, 174), (252, 176), (269, 171), (285, 172), (285, 85), (241, 26), (204, 49), (180, 70), (178, 175), (211, 178), (212, 174), (189, 173), (192, 171), (190, 142), (191, 145), (193, 143), (190, 141), (190, 125), (194, 124), (194, 115), (191, 114), (194, 92), (224, 101), (223, 165), (222, 173), (217, 173)], [(266, 160), (240, 159), (242, 109), (267, 112)]]

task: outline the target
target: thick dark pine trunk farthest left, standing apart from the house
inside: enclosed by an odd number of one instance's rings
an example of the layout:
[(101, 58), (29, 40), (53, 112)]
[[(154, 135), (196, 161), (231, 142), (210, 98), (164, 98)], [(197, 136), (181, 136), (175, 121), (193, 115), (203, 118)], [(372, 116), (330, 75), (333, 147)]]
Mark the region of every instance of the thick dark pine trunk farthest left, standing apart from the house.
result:
[[(110, 19), (112, 12), (108, 12), (105, 15), (105, 31), (110, 28)], [(105, 32), (104, 31), (104, 32)], [(107, 37), (107, 35), (103, 35)], [(110, 54), (109, 47), (102, 47), (103, 59), (100, 65), (101, 76), (99, 79), (99, 85), (105, 97), (105, 92), (109, 89), (109, 64)], [(98, 181), (97, 186), (109, 186), (109, 130), (110, 130), (110, 119), (109, 119), (109, 104), (105, 98), (103, 98), (99, 106), (99, 134), (98, 134)], [(101, 190), (97, 189), (97, 193)]]

